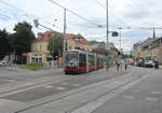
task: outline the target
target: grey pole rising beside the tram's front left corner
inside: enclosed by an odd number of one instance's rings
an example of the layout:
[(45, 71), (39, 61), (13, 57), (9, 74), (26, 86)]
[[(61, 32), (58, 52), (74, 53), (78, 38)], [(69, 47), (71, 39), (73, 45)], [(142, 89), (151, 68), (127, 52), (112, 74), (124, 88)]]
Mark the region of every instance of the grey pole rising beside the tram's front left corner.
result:
[(64, 46), (63, 46), (63, 68), (65, 67), (66, 58), (66, 9), (64, 9)]

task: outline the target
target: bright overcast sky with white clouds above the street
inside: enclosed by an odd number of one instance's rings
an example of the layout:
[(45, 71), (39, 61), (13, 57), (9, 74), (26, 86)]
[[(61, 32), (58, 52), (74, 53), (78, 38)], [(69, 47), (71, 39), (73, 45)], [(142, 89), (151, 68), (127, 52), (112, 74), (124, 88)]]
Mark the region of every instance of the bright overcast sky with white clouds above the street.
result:
[[(16, 23), (27, 20), (39, 22), (56, 31), (63, 31), (64, 10), (50, 2), (50, 0), (3, 0), (24, 10), (24, 12), (11, 8), (0, 0), (0, 29), (6, 28), (13, 32)], [(72, 10), (77, 14), (89, 19), (86, 22), (67, 12), (67, 32), (81, 33), (87, 40), (106, 41), (106, 0), (54, 0), (57, 3)], [(109, 0), (109, 25), (120, 27), (162, 27), (162, 1), (161, 0)], [(31, 16), (32, 14), (33, 16)], [(102, 25), (103, 27), (96, 27)], [(52, 26), (52, 25), (55, 25)], [(35, 28), (35, 32), (45, 31), (44, 28)], [(112, 29), (111, 29), (112, 30)], [(114, 29), (113, 29), (114, 30)], [(157, 36), (162, 36), (162, 29), (156, 30)], [(122, 29), (122, 48), (131, 51), (136, 42), (152, 37), (152, 30)], [(109, 37), (109, 40), (119, 47), (119, 38)]]

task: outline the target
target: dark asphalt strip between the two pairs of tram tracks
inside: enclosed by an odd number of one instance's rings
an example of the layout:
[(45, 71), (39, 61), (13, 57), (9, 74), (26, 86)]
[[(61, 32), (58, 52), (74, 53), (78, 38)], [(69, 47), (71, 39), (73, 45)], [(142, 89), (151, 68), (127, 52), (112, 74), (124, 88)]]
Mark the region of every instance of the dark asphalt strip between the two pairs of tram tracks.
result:
[[(71, 90), (71, 89), (76, 89), (76, 88), (79, 88), (79, 87), (83, 87), (83, 86), (86, 86), (86, 85), (90, 85), (90, 84), (106, 81), (106, 80), (109, 80), (109, 79), (112, 79), (112, 77), (118, 77), (120, 75), (129, 73), (130, 71), (131, 71), (131, 69), (126, 70), (126, 71), (122, 71), (122, 72), (121, 71), (112, 72), (112, 70), (111, 70), (109, 72), (109, 74), (107, 74), (105, 72), (105, 69), (103, 69), (103, 70), (99, 70), (98, 72), (92, 72), (92, 73), (87, 73), (87, 74), (64, 75), (65, 77), (66, 76), (69, 76), (69, 77), (65, 79), (65, 80), (63, 79), (63, 81), (58, 81), (58, 82), (57, 82), (57, 80), (56, 80), (56, 82), (50, 82), (50, 83), (48, 82), (46, 84), (44, 84), (42, 86), (33, 87), (31, 89), (27, 89), (27, 90), (23, 89), (23, 91), (17, 90), (16, 94), (12, 93), (10, 95), (10, 93), (8, 93), (2, 98), (3, 99), (9, 99), (9, 100), (23, 101), (23, 102), (33, 101), (33, 100), (37, 100), (37, 99), (41, 99), (43, 97), (57, 95), (57, 94), (68, 91), (68, 90)], [(46, 74), (45, 77), (48, 77), (49, 74)], [(57, 76), (58, 74), (55, 73), (55, 75)], [(30, 76), (24, 75), (25, 79), (30, 79)], [(35, 77), (36, 76), (39, 77), (39, 80), (44, 77), (44, 75), (41, 75), (41, 76), (35, 75)], [(63, 76), (63, 75), (59, 74), (59, 76)], [(31, 79), (33, 79), (33, 77), (31, 77)]]

